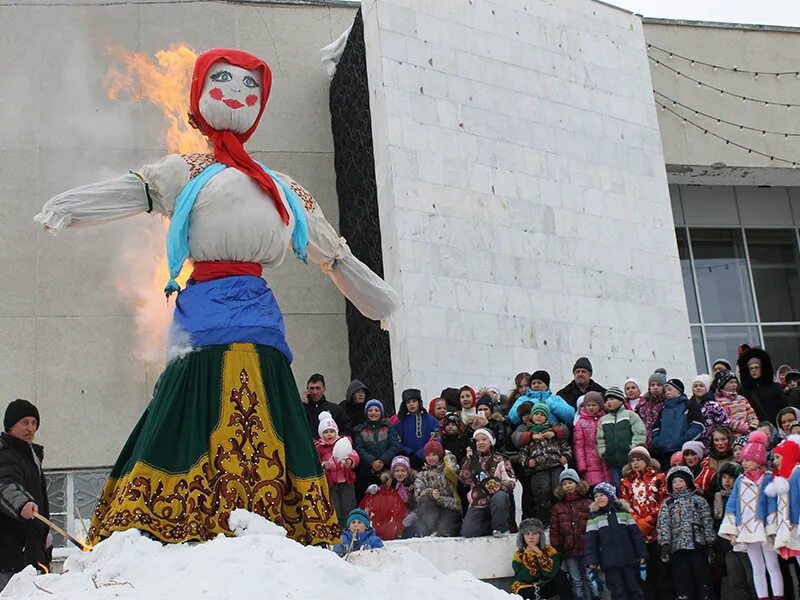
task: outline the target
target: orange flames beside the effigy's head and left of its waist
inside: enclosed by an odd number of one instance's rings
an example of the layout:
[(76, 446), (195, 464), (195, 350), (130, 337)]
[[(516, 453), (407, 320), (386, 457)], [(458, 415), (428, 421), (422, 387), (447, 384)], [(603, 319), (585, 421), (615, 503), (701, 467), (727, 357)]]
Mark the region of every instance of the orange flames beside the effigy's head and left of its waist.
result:
[[(112, 46), (108, 53), (113, 60), (105, 78), (104, 86), (109, 98), (129, 102), (148, 102), (159, 108), (165, 119), (165, 141), (170, 153), (207, 153), (208, 141), (189, 125), (189, 90), (192, 70), (197, 58), (195, 51), (185, 44), (172, 44), (167, 50), (159, 50), (154, 56), (141, 52), (130, 52)], [(137, 356), (149, 363), (164, 360), (172, 310), (163, 300), (163, 289), (169, 280), (165, 249), (165, 231), (169, 221), (163, 221), (163, 229), (153, 230), (151, 239), (137, 244), (134, 252), (125, 257), (125, 264), (141, 264), (152, 258), (152, 269), (146, 281), (132, 281), (130, 270), (126, 278), (117, 282), (119, 289), (133, 303), (139, 329)], [(149, 263), (148, 263), (149, 264)], [(187, 262), (176, 277), (183, 288), (191, 273)]]

